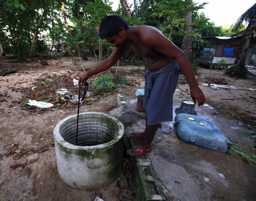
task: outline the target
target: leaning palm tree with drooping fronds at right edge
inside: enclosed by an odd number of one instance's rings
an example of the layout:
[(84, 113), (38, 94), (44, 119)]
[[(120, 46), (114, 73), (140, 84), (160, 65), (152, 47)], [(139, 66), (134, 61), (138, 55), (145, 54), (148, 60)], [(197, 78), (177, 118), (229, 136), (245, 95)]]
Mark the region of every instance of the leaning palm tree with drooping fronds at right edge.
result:
[(234, 64), (236, 64), (235, 68), (229, 68), (227, 74), (245, 78), (246, 77), (246, 69), (245, 69), (245, 59), (247, 55), (247, 51), (249, 48), (250, 39), (256, 28), (256, 4), (250, 7), (243, 15), (241, 15), (236, 23), (234, 24), (234, 30), (238, 30), (239, 26), (243, 22), (247, 22), (248, 26), (245, 29), (242, 39), (242, 46), (238, 52), (238, 56)]

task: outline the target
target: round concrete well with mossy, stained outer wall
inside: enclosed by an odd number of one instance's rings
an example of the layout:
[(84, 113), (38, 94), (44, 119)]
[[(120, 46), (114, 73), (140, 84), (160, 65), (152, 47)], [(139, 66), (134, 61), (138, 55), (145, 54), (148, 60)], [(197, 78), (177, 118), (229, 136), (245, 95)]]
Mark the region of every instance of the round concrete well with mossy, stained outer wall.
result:
[(99, 112), (79, 114), (78, 125), (78, 138), (77, 115), (61, 120), (54, 129), (58, 173), (68, 186), (97, 190), (120, 174), (124, 126)]

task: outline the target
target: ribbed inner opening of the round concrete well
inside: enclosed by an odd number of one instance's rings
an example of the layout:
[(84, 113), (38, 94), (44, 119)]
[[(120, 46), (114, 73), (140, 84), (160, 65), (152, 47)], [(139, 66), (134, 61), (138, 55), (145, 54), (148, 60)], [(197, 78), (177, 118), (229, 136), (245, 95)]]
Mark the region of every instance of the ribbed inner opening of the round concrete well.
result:
[[(77, 146), (94, 146), (114, 140), (118, 135), (118, 123), (98, 114), (80, 114), (77, 134), (77, 117), (66, 120), (59, 127), (61, 137)], [(76, 144), (77, 142), (77, 144)]]

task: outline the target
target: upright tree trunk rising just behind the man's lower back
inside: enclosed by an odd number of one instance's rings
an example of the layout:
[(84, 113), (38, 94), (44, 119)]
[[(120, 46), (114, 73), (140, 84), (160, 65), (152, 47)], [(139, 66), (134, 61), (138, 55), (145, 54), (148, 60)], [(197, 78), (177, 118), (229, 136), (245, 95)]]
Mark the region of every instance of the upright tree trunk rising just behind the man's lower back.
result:
[[(186, 5), (186, 8), (190, 7), (190, 5)], [(191, 42), (191, 35), (190, 32), (192, 28), (190, 24), (192, 23), (192, 11), (186, 13), (186, 19), (188, 20), (189, 24), (184, 25), (184, 35), (182, 41), (182, 51), (184, 51), (188, 57), (188, 60), (191, 62), (193, 61), (193, 53), (192, 53), (192, 42)]]

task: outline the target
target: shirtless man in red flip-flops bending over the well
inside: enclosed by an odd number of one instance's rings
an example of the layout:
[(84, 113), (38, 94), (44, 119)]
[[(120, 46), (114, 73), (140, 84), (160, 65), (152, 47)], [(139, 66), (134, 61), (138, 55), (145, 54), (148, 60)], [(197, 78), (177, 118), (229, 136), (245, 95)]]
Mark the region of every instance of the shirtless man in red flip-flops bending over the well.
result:
[(143, 133), (131, 133), (129, 138), (142, 139), (142, 143), (128, 150), (132, 156), (151, 151), (151, 142), (161, 122), (173, 120), (173, 94), (178, 81), (179, 68), (186, 77), (193, 102), (203, 105), (206, 101), (199, 88), (186, 54), (152, 26), (128, 26), (117, 15), (103, 17), (99, 35), (115, 47), (109, 57), (79, 77), (83, 84), (90, 76), (112, 67), (125, 50), (131, 50), (147, 58), (148, 70), (144, 73), (146, 128)]

